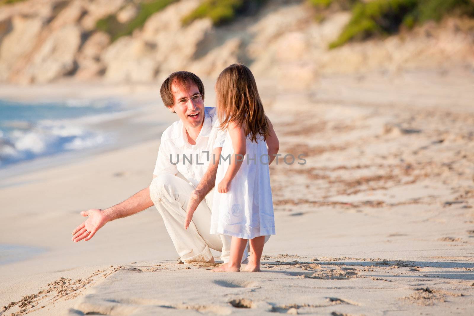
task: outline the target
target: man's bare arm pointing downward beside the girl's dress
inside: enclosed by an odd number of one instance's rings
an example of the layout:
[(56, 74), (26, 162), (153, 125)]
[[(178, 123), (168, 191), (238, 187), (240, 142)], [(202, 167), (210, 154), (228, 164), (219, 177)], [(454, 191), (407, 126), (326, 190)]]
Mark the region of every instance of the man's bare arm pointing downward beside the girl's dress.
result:
[(217, 167), (219, 166), (219, 157), (221, 151), (222, 147), (217, 147), (212, 151), (215, 159), (212, 159), (208, 169), (206, 170), (206, 173), (202, 177), (201, 181), (199, 181), (196, 190), (192, 191), (191, 193), (191, 197), (189, 198), (188, 202), (188, 208), (186, 209), (186, 220), (184, 221), (185, 229), (188, 229), (188, 226), (191, 223), (192, 215), (194, 214), (196, 208), (198, 208), (199, 203), (201, 203), (201, 201), (216, 184)]

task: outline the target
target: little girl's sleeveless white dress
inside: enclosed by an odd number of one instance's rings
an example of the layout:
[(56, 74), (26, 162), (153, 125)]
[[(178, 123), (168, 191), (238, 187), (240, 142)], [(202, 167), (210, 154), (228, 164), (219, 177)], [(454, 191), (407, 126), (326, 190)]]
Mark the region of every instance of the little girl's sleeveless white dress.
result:
[[(244, 239), (275, 235), (272, 188), (268, 167), (268, 151), (263, 136), (257, 143), (247, 136), (244, 160), (230, 182), (227, 193), (219, 193), (218, 185), (229, 167), (234, 148), (229, 132), (222, 146), (221, 159), (216, 175), (210, 234), (230, 235)], [(216, 161), (217, 161), (216, 157)], [(235, 159), (235, 158), (234, 158)]]

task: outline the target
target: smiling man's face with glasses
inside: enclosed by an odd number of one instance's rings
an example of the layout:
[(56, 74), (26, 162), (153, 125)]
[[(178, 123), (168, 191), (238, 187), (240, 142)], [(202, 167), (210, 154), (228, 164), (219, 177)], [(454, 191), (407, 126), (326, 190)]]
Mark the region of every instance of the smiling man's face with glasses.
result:
[[(171, 92), (173, 92), (174, 104), (169, 108), (170, 111), (176, 112), (185, 126), (201, 126), (204, 120), (204, 100), (196, 98), (196, 95), (201, 95), (198, 87), (191, 84), (189, 89), (186, 89), (173, 83)], [(193, 100), (192, 97), (199, 101)]]

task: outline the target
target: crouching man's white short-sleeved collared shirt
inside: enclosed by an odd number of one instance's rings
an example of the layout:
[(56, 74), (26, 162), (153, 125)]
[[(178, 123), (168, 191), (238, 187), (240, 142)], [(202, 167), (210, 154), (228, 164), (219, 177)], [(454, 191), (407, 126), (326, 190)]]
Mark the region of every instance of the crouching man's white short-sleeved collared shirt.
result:
[[(226, 134), (219, 128), (216, 108), (204, 107), (204, 123), (195, 145), (189, 144), (181, 120), (166, 128), (161, 135), (153, 174), (180, 172), (196, 188), (213, 161), (212, 151), (222, 147), (225, 138)], [(216, 157), (216, 161), (218, 159)]]

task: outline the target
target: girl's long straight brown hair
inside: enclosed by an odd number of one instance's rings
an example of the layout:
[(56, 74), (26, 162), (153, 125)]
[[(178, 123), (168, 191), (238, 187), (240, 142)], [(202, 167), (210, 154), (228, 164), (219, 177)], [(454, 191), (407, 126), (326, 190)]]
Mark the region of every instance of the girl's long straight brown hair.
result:
[(250, 135), (252, 142), (256, 143), (259, 135), (266, 140), (270, 133), (268, 118), (250, 69), (241, 63), (224, 69), (217, 78), (216, 95), (221, 129), (235, 122), (245, 126), (246, 136)]

